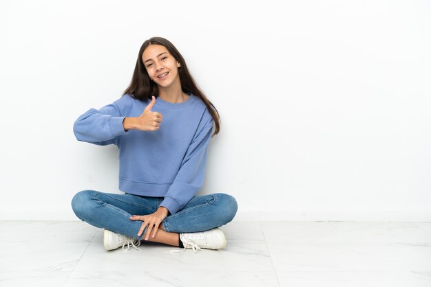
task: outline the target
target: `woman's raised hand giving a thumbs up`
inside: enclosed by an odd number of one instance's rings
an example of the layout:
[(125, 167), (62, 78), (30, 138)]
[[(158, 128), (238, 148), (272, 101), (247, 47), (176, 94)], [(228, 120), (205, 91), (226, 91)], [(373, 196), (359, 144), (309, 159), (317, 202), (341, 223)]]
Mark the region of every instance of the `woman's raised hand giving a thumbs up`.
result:
[(125, 130), (158, 130), (163, 120), (163, 115), (158, 112), (151, 111), (156, 104), (156, 97), (152, 96), (153, 100), (144, 108), (142, 115), (139, 117), (126, 117), (123, 126)]

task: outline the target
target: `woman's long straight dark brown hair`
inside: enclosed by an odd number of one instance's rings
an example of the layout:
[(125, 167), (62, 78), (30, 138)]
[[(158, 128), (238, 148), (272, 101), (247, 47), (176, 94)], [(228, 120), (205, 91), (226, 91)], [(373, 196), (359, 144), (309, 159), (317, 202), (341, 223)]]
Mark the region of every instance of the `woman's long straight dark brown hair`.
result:
[(197, 97), (204, 102), (205, 106), (207, 106), (211, 117), (213, 117), (215, 130), (211, 137), (217, 135), (220, 131), (220, 115), (218, 114), (215, 106), (207, 99), (204, 93), (200, 90), (195, 80), (191, 76), (189, 69), (187, 69), (186, 62), (184, 58), (182, 58), (180, 52), (176, 49), (176, 47), (167, 39), (162, 37), (152, 37), (143, 43), (143, 45), (139, 49), (138, 59), (136, 60), (135, 70), (132, 76), (132, 82), (130, 82), (129, 87), (124, 91), (123, 95), (129, 94), (137, 100), (145, 101), (151, 100), (151, 95), (158, 97), (158, 86), (155, 82), (151, 81), (149, 75), (147, 73), (147, 69), (145, 69), (145, 65), (142, 60), (142, 55), (147, 49), (149, 45), (162, 45), (165, 46), (169, 51), (169, 54), (174, 56), (177, 62), (180, 63), (180, 67), (178, 68), (178, 74), (180, 75), (181, 89), (185, 93), (193, 93)]

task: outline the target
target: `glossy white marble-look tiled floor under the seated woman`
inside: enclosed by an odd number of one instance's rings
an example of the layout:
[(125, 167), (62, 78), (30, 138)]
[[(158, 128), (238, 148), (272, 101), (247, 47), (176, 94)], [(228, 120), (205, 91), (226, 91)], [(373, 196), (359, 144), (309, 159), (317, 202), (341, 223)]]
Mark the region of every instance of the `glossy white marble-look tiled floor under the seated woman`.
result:
[(431, 287), (431, 222), (231, 222), (220, 251), (105, 251), (85, 222), (0, 221), (0, 286)]

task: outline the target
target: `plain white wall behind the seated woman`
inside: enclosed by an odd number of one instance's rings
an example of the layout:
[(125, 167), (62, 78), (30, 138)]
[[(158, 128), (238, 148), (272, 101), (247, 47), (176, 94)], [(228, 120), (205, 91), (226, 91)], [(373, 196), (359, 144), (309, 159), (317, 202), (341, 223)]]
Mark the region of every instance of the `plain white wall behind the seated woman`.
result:
[(431, 220), (429, 1), (0, 1), (0, 219), (118, 191), (74, 120), (168, 38), (222, 117), (202, 194), (235, 220)]

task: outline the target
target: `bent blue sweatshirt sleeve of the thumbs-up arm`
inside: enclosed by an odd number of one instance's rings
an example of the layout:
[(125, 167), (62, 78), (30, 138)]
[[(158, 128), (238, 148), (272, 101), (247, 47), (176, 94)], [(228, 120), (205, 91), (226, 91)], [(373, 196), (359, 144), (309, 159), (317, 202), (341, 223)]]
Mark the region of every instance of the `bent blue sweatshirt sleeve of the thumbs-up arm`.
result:
[(74, 135), (78, 141), (87, 141), (98, 146), (115, 143), (115, 137), (128, 133), (123, 128), (124, 118), (120, 115), (116, 102), (99, 110), (90, 108), (74, 122)]

